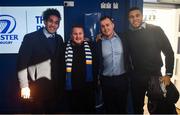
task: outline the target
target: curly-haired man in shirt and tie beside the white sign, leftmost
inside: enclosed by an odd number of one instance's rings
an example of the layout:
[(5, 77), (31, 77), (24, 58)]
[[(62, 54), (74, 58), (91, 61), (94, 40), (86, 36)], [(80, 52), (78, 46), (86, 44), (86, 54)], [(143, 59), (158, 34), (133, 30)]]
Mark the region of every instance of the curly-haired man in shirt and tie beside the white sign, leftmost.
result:
[(33, 101), (30, 112), (54, 113), (64, 83), (63, 40), (56, 33), (61, 16), (58, 10), (47, 9), (43, 20), (45, 27), (24, 36), (18, 54), (18, 79), (21, 97)]

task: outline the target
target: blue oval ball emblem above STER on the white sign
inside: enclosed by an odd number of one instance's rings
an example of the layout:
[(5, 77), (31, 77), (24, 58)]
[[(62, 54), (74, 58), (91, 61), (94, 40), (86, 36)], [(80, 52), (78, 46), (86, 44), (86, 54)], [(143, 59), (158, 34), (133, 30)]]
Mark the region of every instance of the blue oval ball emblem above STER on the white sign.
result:
[(12, 33), (16, 27), (16, 20), (11, 15), (0, 15), (0, 34)]

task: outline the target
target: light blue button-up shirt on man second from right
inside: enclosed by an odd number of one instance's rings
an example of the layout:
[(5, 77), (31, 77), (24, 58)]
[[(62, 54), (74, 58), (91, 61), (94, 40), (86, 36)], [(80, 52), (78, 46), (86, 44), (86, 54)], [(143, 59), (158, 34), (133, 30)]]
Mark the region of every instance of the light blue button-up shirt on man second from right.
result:
[(103, 75), (117, 76), (125, 73), (123, 46), (117, 34), (111, 39), (102, 38)]

